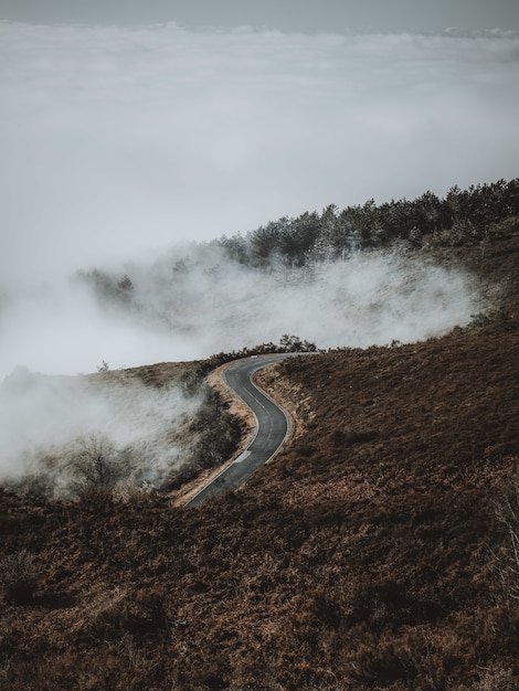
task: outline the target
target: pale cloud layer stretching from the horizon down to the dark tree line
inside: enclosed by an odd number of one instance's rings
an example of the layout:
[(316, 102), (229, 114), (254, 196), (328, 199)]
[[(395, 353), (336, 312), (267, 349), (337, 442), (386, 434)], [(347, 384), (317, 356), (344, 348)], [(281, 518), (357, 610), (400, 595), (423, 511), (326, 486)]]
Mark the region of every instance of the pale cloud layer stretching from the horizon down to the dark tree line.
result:
[(0, 283), (512, 178), (519, 38), (0, 23)]

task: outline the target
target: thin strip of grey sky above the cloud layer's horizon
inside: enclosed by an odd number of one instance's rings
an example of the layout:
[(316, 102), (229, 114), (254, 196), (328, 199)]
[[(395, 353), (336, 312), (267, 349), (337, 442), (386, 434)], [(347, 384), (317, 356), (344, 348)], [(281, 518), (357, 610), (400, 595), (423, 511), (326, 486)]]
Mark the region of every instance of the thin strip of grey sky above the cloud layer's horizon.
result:
[(515, 0), (0, 0), (0, 18), (28, 22), (254, 25), (284, 31), (519, 30)]

